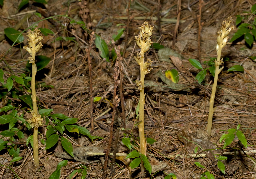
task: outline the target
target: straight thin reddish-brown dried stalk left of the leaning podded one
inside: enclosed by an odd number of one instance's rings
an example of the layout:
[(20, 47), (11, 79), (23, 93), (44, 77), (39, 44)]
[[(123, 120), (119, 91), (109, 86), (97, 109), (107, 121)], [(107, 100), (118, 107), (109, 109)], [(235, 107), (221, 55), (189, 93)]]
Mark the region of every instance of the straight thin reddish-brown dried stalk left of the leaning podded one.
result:
[(91, 113), (91, 132), (94, 131), (94, 120), (93, 120), (93, 92), (92, 92), (92, 64), (91, 64), (91, 56), (90, 56), (90, 52), (92, 49), (92, 44), (94, 42), (95, 38), (94, 38), (94, 32), (91, 33), (90, 35), (90, 45), (89, 48), (86, 49), (86, 53), (87, 53), (87, 59), (88, 59), (88, 66), (89, 66), (89, 76), (90, 76), (90, 113)]

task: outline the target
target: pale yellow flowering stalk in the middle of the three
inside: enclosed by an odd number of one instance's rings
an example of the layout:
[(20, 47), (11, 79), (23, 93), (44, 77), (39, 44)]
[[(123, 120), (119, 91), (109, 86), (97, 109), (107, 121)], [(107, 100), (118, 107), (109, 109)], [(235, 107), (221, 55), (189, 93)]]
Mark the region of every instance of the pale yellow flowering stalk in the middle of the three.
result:
[[(136, 80), (137, 86), (140, 90), (140, 102), (139, 102), (139, 137), (140, 137), (140, 153), (146, 154), (146, 139), (144, 135), (144, 104), (145, 104), (145, 94), (144, 94), (144, 78), (153, 68), (151, 68), (152, 61), (148, 58), (144, 63), (144, 53), (148, 51), (149, 47), (153, 43), (151, 41), (151, 35), (153, 33), (154, 27), (144, 22), (140, 28), (139, 36), (135, 37), (137, 45), (141, 48), (141, 51), (134, 59), (140, 65), (140, 81)], [(143, 162), (141, 161), (141, 171), (145, 171)]]

